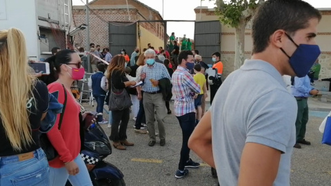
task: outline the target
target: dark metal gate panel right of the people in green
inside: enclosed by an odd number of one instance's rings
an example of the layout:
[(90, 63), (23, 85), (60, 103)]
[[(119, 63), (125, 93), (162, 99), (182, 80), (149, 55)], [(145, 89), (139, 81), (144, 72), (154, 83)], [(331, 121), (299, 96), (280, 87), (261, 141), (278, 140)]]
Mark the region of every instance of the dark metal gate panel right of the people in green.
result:
[(212, 64), (212, 53), (221, 52), (221, 23), (199, 21), (194, 25), (194, 45), (203, 62)]

